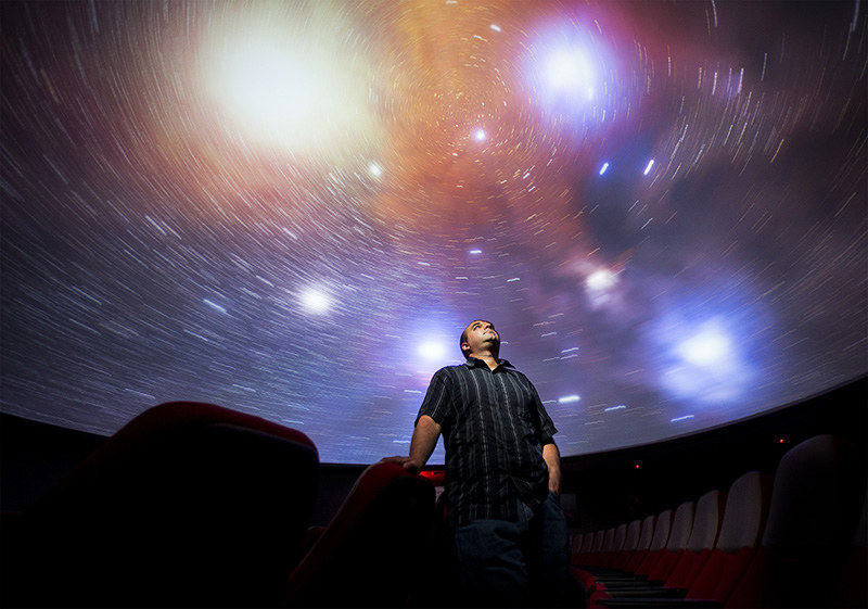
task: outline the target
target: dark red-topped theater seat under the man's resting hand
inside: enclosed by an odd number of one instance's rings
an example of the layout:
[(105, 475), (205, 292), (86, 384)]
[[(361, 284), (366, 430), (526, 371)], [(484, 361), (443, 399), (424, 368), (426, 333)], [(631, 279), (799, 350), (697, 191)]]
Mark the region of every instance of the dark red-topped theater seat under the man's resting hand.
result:
[[(397, 464), (369, 467), (289, 578), (290, 607), (398, 607), (426, 582), (434, 486)], [(413, 595), (418, 596), (418, 595)]]

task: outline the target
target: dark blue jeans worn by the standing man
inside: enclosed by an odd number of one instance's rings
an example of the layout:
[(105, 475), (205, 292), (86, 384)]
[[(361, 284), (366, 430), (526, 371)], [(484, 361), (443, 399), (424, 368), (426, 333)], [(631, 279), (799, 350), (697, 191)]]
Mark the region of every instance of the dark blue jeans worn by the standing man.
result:
[(570, 566), (566, 518), (549, 492), (519, 520), (480, 519), (455, 530), (456, 567), (468, 607), (563, 607)]

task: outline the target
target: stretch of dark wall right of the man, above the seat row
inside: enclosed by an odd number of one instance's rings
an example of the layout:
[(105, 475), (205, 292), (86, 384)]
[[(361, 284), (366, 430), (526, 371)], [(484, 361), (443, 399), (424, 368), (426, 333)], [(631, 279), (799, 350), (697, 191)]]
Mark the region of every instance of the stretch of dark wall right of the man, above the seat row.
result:
[(866, 388), (868, 379), (861, 378), (719, 429), (564, 459), (563, 491), (577, 498), (572, 524), (578, 531), (596, 531), (675, 508), (714, 489), (727, 491), (748, 471), (774, 474), (787, 451), (819, 434), (852, 440), (868, 462)]

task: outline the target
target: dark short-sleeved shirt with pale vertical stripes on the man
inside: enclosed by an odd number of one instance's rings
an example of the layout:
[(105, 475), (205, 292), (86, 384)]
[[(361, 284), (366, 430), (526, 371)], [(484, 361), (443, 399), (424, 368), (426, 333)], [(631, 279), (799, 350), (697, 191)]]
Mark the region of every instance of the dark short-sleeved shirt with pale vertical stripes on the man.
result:
[(441, 368), (419, 417), (436, 421), (446, 448), (446, 496), (458, 526), (481, 518), (515, 521), (515, 499), (536, 509), (548, 494), (542, 446), (558, 432), (536, 389), (506, 359)]

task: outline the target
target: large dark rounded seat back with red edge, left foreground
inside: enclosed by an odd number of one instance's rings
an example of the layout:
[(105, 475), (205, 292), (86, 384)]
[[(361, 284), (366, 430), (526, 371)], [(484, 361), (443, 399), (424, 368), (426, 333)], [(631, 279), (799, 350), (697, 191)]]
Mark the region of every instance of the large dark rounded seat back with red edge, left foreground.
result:
[(151, 408), (4, 525), (4, 605), (273, 606), (318, 465), (305, 434), (265, 419)]

